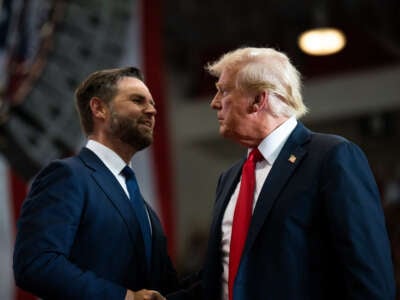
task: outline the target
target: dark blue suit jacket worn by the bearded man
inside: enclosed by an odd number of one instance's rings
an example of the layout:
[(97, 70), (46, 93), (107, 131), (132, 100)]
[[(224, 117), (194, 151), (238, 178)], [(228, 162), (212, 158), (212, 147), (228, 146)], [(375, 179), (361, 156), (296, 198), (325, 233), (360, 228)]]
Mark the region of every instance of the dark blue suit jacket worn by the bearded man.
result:
[(18, 221), (17, 284), (44, 299), (124, 299), (126, 289), (177, 288), (159, 219), (152, 265), (133, 208), (114, 175), (89, 149), (58, 160), (34, 180)]

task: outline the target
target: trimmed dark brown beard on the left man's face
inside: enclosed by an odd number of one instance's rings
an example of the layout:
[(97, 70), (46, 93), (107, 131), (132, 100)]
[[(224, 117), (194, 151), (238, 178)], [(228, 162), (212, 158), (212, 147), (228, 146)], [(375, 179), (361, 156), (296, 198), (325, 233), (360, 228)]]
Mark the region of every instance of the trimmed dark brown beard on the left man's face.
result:
[(125, 144), (135, 148), (136, 151), (150, 146), (153, 142), (153, 131), (141, 129), (139, 125), (140, 118), (124, 117), (115, 111), (111, 111), (111, 134)]

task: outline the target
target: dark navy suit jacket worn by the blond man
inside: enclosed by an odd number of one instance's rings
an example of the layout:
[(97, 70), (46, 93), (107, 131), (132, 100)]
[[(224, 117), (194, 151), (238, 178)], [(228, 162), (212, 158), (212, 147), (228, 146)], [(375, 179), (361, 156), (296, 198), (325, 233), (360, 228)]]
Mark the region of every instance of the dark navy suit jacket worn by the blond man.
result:
[[(218, 183), (203, 273), (205, 299), (220, 299), (221, 220), (243, 162)], [(344, 138), (312, 133), (299, 123), (258, 198), (234, 300), (392, 300), (389, 247), (365, 155)]]

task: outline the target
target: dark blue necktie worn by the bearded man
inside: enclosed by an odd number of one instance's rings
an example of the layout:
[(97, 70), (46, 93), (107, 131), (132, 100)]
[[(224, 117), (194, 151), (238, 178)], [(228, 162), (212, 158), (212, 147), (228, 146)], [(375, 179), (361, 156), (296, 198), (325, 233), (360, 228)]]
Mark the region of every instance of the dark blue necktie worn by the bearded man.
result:
[(133, 170), (125, 166), (122, 169), (122, 174), (125, 176), (126, 187), (128, 188), (129, 197), (133, 208), (135, 210), (136, 217), (138, 218), (140, 229), (142, 231), (144, 247), (146, 250), (147, 267), (150, 269), (151, 266), (151, 231), (149, 218), (146, 212), (146, 206), (140, 193), (139, 186), (136, 181), (136, 176)]

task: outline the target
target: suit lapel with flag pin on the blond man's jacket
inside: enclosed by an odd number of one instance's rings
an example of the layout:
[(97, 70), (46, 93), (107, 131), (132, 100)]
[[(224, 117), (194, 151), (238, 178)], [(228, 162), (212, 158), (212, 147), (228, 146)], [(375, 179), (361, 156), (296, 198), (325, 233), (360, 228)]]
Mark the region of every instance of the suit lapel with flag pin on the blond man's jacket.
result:
[(262, 225), (267, 219), (275, 201), (284, 188), (288, 179), (292, 176), (297, 166), (307, 153), (303, 144), (310, 138), (309, 131), (299, 123), (289, 136), (279, 156), (274, 162), (267, 179), (261, 189), (254, 214), (251, 219), (247, 235), (244, 255), (253, 245)]

